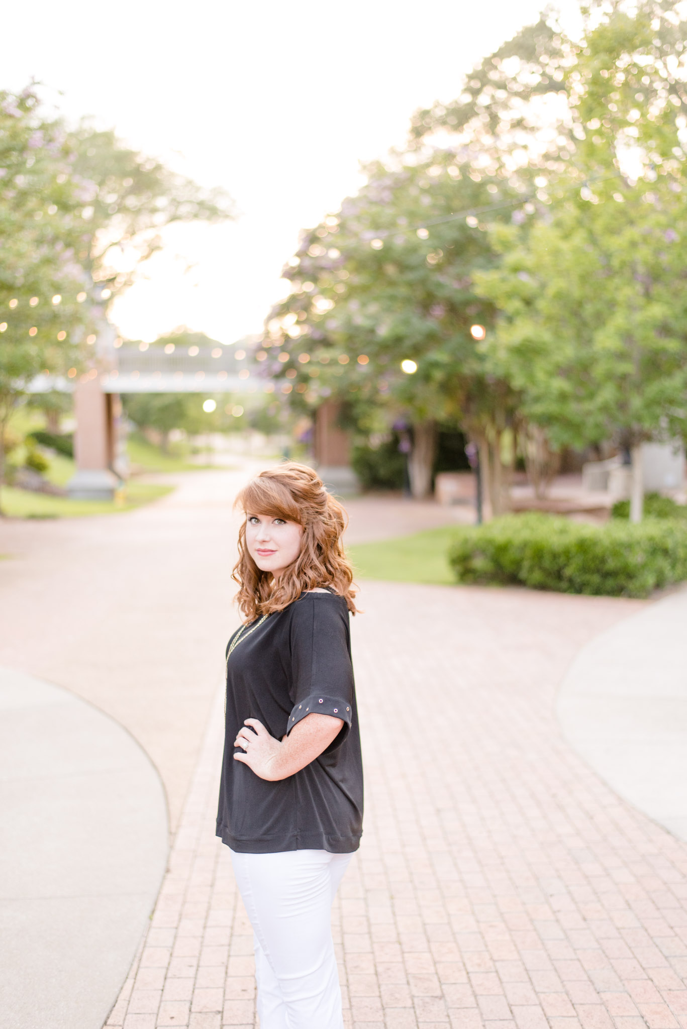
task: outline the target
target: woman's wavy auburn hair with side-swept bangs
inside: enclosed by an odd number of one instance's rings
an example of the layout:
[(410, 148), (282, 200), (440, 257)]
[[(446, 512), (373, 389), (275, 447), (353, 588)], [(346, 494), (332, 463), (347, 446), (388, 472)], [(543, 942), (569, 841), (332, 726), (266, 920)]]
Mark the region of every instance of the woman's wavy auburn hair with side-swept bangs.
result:
[(237, 601), (246, 622), (282, 611), (307, 590), (332, 587), (355, 614), (353, 569), (341, 537), (348, 523), (338, 500), (327, 492), (319, 475), (304, 464), (287, 461), (261, 471), (236, 498), (251, 514), (270, 514), (303, 526), (301, 553), (291, 567), (272, 578), (257, 567), (246, 547), (246, 519), (239, 529), (239, 560), (232, 578), (239, 583)]

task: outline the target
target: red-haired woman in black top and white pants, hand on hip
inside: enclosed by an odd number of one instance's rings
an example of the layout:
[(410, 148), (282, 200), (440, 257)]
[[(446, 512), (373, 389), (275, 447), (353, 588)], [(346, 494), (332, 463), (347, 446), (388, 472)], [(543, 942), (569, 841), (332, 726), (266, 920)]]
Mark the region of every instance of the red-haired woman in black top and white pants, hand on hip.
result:
[(341, 504), (311, 468), (261, 472), (234, 578), (217, 836), (254, 932), (261, 1029), (342, 1029), (331, 908), (363, 821)]

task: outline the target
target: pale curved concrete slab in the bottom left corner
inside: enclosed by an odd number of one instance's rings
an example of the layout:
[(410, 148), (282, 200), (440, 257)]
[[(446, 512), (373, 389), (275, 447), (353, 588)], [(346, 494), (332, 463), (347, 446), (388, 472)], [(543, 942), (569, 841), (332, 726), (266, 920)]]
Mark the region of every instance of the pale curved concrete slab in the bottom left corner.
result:
[(116, 721), (0, 668), (0, 1029), (100, 1029), (167, 863), (165, 791)]

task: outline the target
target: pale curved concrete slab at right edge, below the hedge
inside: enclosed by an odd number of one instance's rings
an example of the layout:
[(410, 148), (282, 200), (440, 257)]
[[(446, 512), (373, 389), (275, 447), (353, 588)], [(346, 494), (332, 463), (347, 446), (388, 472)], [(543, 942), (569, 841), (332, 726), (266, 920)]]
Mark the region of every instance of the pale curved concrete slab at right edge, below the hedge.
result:
[(557, 715), (620, 796), (687, 841), (687, 589), (588, 643), (561, 683)]

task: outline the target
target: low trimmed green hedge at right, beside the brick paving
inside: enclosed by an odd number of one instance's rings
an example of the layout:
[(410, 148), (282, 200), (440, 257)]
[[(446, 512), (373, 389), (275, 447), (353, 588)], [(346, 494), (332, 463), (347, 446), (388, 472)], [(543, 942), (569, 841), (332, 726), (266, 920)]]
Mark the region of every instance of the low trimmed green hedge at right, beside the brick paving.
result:
[(553, 514), (505, 514), (459, 529), (448, 560), (458, 582), (648, 597), (687, 579), (687, 524), (647, 519), (594, 526)]

